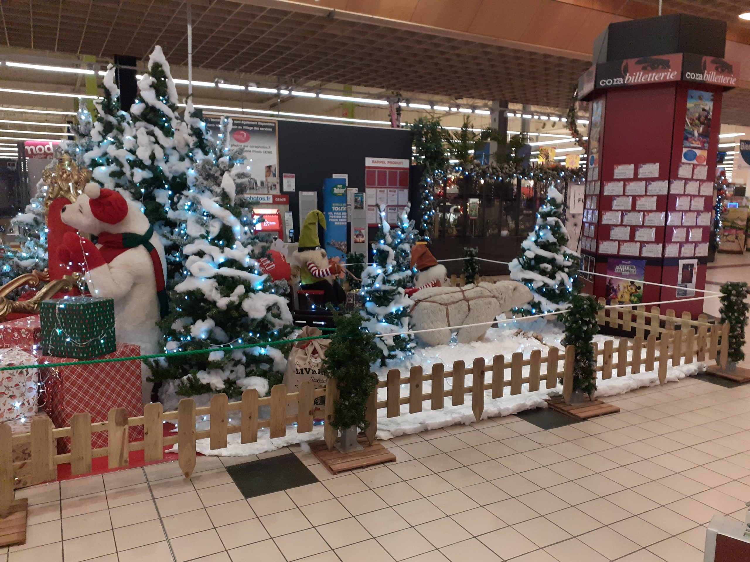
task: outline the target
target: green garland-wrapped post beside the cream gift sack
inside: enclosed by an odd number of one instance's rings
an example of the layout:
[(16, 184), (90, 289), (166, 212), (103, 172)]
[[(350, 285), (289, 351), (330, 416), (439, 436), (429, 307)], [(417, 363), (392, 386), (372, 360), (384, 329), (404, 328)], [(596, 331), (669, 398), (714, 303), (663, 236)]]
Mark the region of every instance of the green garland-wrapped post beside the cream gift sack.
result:
[(331, 425), (339, 430), (353, 426), (368, 429), (368, 399), (377, 387), (377, 375), (370, 366), (380, 357), (380, 351), (374, 334), (362, 330), (362, 315), (334, 312), (333, 319), (336, 331), (320, 369), (327, 378), (335, 379), (340, 396), (334, 402)]

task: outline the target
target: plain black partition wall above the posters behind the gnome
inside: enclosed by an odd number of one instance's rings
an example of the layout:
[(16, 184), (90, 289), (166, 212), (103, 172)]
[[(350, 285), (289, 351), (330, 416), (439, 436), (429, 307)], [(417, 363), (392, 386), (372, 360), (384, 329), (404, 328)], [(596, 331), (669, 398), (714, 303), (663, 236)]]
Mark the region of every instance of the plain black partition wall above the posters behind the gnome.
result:
[[(412, 132), (386, 127), (358, 127), (306, 121), (278, 121), (279, 184), (290, 196), (295, 240), (299, 237), (300, 191), (317, 191), (323, 211), (323, 179), (348, 174), (349, 187), (365, 190), (365, 158), (407, 158), (412, 156)], [(295, 193), (283, 191), (283, 174), (294, 174)], [(284, 233), (286, 235), (286, 233)]]

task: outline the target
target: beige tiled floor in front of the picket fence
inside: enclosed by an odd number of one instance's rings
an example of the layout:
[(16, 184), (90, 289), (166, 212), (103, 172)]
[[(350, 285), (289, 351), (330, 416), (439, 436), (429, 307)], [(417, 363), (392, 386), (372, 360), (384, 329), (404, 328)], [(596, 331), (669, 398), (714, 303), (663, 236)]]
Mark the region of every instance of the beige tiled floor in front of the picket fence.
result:
[[(696, 379), (544, 430), (515, 416), (387, 441), (398, 462), (245, 499), (222, 459), (37, 486), (7, 562), (697, 562), (750, 499), (750, 386)], [(254, 459), (223, 459), (247, 462)], [(0, 552), (5, 562), (5, 552)]]

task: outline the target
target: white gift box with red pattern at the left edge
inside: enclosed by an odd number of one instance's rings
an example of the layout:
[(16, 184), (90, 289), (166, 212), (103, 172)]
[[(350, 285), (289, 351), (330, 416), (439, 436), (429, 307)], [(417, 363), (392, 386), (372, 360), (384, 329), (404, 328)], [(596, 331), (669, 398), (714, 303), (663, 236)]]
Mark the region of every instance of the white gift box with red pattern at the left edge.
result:
[[(0, 366), (36, 365), (37, 359), (20, 348), (0, 349)], [(39, 369), (0, 371), (0, 422), (37, 413)]]

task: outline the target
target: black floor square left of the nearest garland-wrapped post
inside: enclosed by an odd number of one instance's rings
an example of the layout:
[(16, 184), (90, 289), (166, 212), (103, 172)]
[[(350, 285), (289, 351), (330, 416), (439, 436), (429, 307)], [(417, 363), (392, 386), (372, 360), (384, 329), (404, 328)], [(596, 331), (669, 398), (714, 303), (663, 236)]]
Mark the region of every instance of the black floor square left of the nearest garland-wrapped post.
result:
[(281, 492), (318, 481), (305, 463), (294, 454), (228, 466), (226, 471), (245, 498)]

